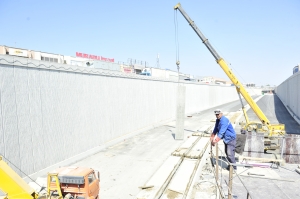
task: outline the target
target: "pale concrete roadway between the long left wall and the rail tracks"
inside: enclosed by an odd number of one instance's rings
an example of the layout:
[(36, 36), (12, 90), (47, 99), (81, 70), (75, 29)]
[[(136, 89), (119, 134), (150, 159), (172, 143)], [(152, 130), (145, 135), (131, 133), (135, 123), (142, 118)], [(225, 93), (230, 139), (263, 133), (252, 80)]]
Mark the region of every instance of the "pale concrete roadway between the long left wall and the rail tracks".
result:
[[(201, 124), (215, 119), (213, 110), (237, 111), (239, 101), (231, 102), (185, 118), (185, 138), (199, 129)], [(174, 140), (175, 122), (154, 128), (109, 147), (74, 164), (100, 171), (101, 198), (133, 199), (144, 183), (155, 173), (170, 154), (183, 141)]]

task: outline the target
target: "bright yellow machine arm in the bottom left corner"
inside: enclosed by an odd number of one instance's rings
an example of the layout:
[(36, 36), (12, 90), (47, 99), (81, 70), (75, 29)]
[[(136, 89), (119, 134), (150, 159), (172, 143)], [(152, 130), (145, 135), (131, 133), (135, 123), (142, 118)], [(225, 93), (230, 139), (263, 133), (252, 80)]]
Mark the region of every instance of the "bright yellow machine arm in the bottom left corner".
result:
[(0, 156), (0, 189), (9, 199), (34, 199), (38, 195)]

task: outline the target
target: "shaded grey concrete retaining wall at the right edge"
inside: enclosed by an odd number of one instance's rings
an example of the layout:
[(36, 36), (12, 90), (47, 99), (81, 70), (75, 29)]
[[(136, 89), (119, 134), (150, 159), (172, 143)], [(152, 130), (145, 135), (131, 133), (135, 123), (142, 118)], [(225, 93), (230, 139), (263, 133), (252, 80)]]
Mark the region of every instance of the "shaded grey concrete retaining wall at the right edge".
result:
[(275, 92), (290, 114), (300, 124), (300, 72), (282, 82), (276, 87)]

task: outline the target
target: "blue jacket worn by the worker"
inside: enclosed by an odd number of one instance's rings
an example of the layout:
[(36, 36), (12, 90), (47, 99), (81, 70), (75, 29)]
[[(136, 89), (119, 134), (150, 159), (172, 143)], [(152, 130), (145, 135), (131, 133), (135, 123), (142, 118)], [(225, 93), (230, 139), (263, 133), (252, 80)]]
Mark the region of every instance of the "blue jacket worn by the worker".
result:
[(230, 121), (225, 116), (222, 116), (220, 119), (216, 120), (213, 133), (217, 133), (218, 137), (223, 139), (226, 144), (236, 138), (235, 131)]

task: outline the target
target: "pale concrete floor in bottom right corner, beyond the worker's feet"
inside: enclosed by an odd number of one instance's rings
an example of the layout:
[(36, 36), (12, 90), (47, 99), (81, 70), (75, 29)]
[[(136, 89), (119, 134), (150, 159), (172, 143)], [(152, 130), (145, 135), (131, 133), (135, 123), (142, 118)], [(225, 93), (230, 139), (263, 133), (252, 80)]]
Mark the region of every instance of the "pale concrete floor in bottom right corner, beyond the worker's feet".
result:
[[(220, 146), (220, 149), (223, 149)], [(220, 163), (219, 163), (220, 165)], [(219, 169), (219, 179), (221, 186), (228, 195), (229, 172), (223, 168)], [(247, 193), (251, 199), (282, 199), (300, 198), (300, 175), (295, 172), (296, 164), (285, 164), (284, 166), (273, 165), (272, 168), (243, 168), (238, 167), (236, 175), (233, 177), (233, 198), (247, 198)], [(248, 175), (261, 174), (263, 176)]]

